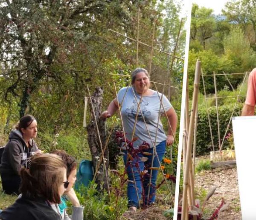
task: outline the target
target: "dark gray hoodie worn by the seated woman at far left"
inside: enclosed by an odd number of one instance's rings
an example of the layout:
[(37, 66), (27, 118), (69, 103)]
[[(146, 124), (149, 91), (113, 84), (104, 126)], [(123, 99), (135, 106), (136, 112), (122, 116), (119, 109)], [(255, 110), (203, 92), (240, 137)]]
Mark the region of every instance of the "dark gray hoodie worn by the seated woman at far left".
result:
[(29, 147), (27, 147), (21, 132), (12, 130), (1, 158), (0, 172), (18, 175), (23, 162), (35, 151), (38, 151), (38, 147), (33, 139), (29, 140)]

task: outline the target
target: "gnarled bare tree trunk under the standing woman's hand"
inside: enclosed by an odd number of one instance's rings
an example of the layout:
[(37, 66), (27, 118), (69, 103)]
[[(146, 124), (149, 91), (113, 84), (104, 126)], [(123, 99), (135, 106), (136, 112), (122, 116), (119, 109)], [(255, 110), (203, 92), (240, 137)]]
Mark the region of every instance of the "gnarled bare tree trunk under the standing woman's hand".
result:
[[(102, 148), (101, 148), (101, 145), (99, 142), (99, 135), (98, 135), (98, 131), (96, 128), (95, 118), (93, 115), (93, 109), (91, 109), (91, 121), (86, 127), (87, 139), (88, 139), (90, 152), (92, 155), (94, 171), (96, 169), (96, 166), (99, 163), (98, 158), (102, 155), (102, 149), (104, 149), (105, 143), (106, 143), (106, 127), (105, 127), (106, 121), (103, 120), (102, 118), (100, 118), (100, 115), (102, 112), (102, 93), (103, 93), (102, 88), (96, 87), (95, 92), (94, 92), (93, 96), (91, 97), (92, 102), (93, 102), (93, 108), (94, 108), (95, 115), (96, 115), (96, 121), (97, 121), (98, 128), (99, 128), (99, 134), (101, 137)], [(107, 159), (105, 161), (107, 170), (105, 171), (104, 165), (103, 165), (104, 160), (102, 160), (102, 163), (99, 166), (98, 174), (97, 174), (96, 180), (95, 180), (95, 182), (98, 185), (99, 190), (101, 189), (101, 187), (100, 187), (101, 184), (103, 184), (104, 189), (108, 188), (109, 179), (107, 179), (106, 173), (105, 173), (105, 172), (107, 172), (107, 174), (108, 174), (108, 164), (109, 164), (108, 163), (108, 161), (109, 161), (108, 160), (108, 148), (106, 148), (106, 151), (104, 153), (104, 158)]]

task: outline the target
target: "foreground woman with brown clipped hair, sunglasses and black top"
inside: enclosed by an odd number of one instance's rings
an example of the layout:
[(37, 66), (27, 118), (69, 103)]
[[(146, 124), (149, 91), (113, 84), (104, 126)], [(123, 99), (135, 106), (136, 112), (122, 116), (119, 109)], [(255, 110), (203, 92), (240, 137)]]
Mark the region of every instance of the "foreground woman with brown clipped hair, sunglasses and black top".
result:
[(36, 154), (26, 160), (20, 177), (22, 195), (0, 213), (0, 219), (61, 220), (51, 205), (61, 203), (69, 185), (63, 160), (55, 154)]

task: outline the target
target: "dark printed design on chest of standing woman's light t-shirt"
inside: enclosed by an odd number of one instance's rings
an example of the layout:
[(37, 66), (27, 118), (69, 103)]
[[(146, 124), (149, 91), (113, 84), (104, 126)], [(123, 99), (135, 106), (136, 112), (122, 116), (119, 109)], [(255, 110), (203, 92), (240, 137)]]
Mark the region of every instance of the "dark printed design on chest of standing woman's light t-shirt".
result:
[[(130, 108), (125, 109), (125, 112), (128, 114), (128, 119), (129, 119), (129, 117), (132, 117), (135, 119), (136, 114), (137, 114), (137, 109), (138, 109), (137, 101), (134, 99), (133, 103), (134, 104)], [(151, 115), (151, 112), (148, 111), (148, 109), (147, 109), (148, 104), (149, 104), (148, 102), (140, 103), (140, 110), (138, 112), (137, 120), (143, 121), (143, 116), (144, 116), (145, 121), (147, 122), (147, 116)], [(141, 112), (142, 112), (143, 116), (141, 115)]]

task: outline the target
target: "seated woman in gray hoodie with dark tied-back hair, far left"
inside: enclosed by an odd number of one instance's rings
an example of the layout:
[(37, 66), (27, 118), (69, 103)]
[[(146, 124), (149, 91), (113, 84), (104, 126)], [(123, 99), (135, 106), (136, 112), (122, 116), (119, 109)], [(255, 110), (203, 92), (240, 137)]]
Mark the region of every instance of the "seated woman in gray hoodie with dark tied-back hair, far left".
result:
[(35, 153), (41, 153), (33, 140), (37, 135), (37, 122), (33, 116), (23, 116), (9, 135), (0, 163), (3, 191), (19, 194), (21, 165)]

